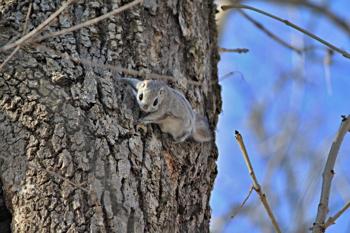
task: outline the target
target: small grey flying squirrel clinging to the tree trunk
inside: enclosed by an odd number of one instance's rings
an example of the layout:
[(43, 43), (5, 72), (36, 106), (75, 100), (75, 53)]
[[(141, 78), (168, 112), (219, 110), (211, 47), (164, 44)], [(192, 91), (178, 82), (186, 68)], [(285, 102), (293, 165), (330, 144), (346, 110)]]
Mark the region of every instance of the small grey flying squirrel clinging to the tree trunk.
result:
[(208, 122), (192, 109), (181, 92), (153, 80), (118, 78), (117, 81), (132, 88), (141, 110), (146, 112), (134, 124), (156, 123), (163, 136), (171, 135), (174, 143), (189, 137), (199, 142), (212, 139)]

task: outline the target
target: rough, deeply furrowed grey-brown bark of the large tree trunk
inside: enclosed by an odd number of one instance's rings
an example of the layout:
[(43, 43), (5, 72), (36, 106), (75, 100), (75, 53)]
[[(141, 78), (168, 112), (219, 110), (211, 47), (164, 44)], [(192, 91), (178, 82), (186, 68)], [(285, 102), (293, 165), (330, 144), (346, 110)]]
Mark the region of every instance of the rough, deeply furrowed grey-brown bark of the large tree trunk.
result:
[[(29, 2), (0, 0), (0, 45), (23, 30)], [(42, 35), (126, 3), (78, 0)], [(27, 30), (62, 4), (34, 0)], [(207, 82), (218, 78), (215, 8), (211, 0), (149, 0), (43, 44), (80, 59), (145, 72), (133, 78), (156, 73)], [(0, 61), (10, 52), (0, 53)], [(134, 126), (139, 117), (134, 96), (130, 88), (114, 84), (123, 75), (31, 45), (3, 68), (0, 154), (75, 183), (87, 182), (84, 187), (92, 188), (99, 204), (55, 176), (0, 159), (0, 194), (12, 214), (12, 232), (209, 232), (218, 156), (214, 140), (165, 146), (158, 126)], [(183, 92), (214, 132), (221, 112), (218, 85), (162, 82)]]

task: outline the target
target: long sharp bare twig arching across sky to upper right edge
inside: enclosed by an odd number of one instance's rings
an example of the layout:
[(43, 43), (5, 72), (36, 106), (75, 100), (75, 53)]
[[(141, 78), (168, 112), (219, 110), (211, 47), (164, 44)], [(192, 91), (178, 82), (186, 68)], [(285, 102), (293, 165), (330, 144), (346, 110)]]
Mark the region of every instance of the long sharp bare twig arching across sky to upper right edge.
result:
[(230, 6), (222, 6), (221, 8), (222, 8), (223, 10), (227, 10), (227, 9), (230, 9), (230, 8), (245, 8), (245, 9), (254, 10), (254, 11), (259, 12), (259, 13), (261, 13), (261, 14), (267, 15), (267, 16), (269, 16), (269, 17), (275, 19), (275, 20), (278, 20), (278, 21), (281, 21), (281, 22), (287, 24), (288, 26), (290, 26), (290, 27), (292, 27), (292, 28), (295, 28), (296, 30), (301, 31), (302, 33), (304, 33), (304, 34), (306, 34), (306, 35), (308, 35), (308, 36), (310, 36), (310, 37), (316, 39), (317, 41), (321, 42), (322, 44), (327, 45), (329, 48), (331, 48), (331, 49), (333, 49), (333, 50), (335, 50), (335, 51), (337, 51), (337, 52), (343, 54), (344, 57), (350, 59), (350, 54), (349, 54), (349, 53), (347, 53), (347, 52), (345, 52), (345, 51), (343, 51), (343, 50), (337, 48), (336, 46), (334, 46), (334, 45), (328, 43), (327, 41), (324, 41), (323, 39), (321, 39), (320, 37), (315, 36), (315, 35), (312, 34), (311, 32), (309, 32), (309, 31), (307, 31), (307, 30), (305, 30), (305, 29), (303, 29), (303, 28), (301, 28), (301, 27), (296, 26), (295, 24), (289, 22), (288, 20), (283, 20), (283, 19), (281, 19), (281, 18), (279, 18), (279, 17), (277, 17), (277, 16), (274, 16), (274, 15), (272, 15), (272, 14), (269, 14), (269, 13), (264, 12), (264, 11), (262, 11), (262, 10), (259, 10), (259, 9), (257, 9), (257, 8), (250, 7), (250, 6), (246, 6), (246, 5), (230, 5)]

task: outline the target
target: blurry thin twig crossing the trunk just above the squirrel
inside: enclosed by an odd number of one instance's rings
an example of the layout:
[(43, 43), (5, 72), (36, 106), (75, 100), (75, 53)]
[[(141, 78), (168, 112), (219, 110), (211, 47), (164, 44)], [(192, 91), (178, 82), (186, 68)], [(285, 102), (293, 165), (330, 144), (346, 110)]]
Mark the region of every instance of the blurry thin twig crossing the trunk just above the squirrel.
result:
[[(40, 50), (43, 50), (43, 51), (45, 51), (47, 53), (55, 54), (57, 56), (60, 56), (60, 57), (62, 57), (64, 59), (68, 59), (68, 60), (74, 61), (76, 63), (80, 63), (80, 64), (83, 64), (83, 65), (88, 65), (88, 66), (92, 66), (92, 67), (95, 66), (95, 67), (98, 67), (98, 68), (104, 68), (106, 70), (119, 71), (119, 72), (124, 72), (124, 73), (132, 74), (132, 75), (147, 76), (147, 77), (151, 77), (153, 79), (158, 79), (158, 80), (159, 79), (165, 79), (165, 80), (171, 80), (171, 81), (180, 80), (182, 82), (188, 83), (190, 85), (196, 85), (196, 86), (211, 86), (211, 85), (214, 85), (214, 84), (219, 82), (218, 79), (210, 81), (210, 82), (198, 82), (198, 81), (181, 79), (181, 78), (176, 78), (176, 77), (171, 77), (171, 76), (161, 75), (161, 74), (153, 74), (153, 73), (152, 74), (146, 74), (144, 71), (137, 71), (137, 70), (123, 68), (123, 67), (120, 67), (120, 66), (105, 65), (105, 64), (100, 64), (100, 63), (94, 63), (92, 61), (86, 61), (86, 60), (83, 60), (83, 59), (79, 59), (79, 58), (70, 56), (68, 54), (64, 54), (64, 53), (58, 52), (56, 50), (49, 49), (49, 48), (47, 48), (47, 47), (45, 47), (43, 45), (40, 45), (38, 43), (35, 43), (35, 42), (31, 42), (31, 43), (36, 48), (38, 48)], [(231, 72), (231, 73), (234, 73), (234, 72)]]

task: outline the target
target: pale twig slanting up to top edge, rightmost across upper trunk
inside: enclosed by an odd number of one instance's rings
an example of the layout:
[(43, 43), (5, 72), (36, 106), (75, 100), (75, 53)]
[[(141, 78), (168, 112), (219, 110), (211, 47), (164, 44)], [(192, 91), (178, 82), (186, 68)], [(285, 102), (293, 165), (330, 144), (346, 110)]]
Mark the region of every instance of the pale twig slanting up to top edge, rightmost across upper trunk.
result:
[(130, 3), (127, 3), (126, 5), (124, 6), (121, 6), (115, 10), (112, 10), (111, 12), (109, 13), (106, 13), (106, 14), (103, 14), (99, 17), (96, 17), (92, 20), (89, 20), (89, 21), (86, 21), (84, 23), (79, 23), (78, 25), (76, 26), (73, 26), (73, 27), (70, 27), (70, 28), (67, 28), (67, 29), (64, 29), (64, 30), (60, 30), (60, 31), (56, 31), (56, 32), (52, 32), (48, 35), (45, 35), (45, 36), (41, 36), (39, 38), (37, 38), (37, 42), (41, 42), (43, 41), (44, 39), (47, 39), (47, 38), (50, 38), (50, 37), (54, 37), (54, 36), (60, 36), (60, 35), (64, 35), (64, 34), (67, 34), (69, 32), (72, 32), (72, 31), (75, 31), (75, 30), (78, 30), (80, 28), (84, 28), (84, 27), (87, 27), (87, 26), (90, 26), (92, 24), (95, 24), (95, 23), (98, 23), (99, 21), (102, 21), (102, 20), (105, 20), (105, 19), (108, 19), (109, 17), (111, 17), (112, 15), (116, 15), (120, 12), (123, 12), (124, 10), (127, 10), (135, 5), (138, 5), (140, 3), (142, 3), (143, 1), (145, 0), (135, 0), (135, 1), (132, 1)]

